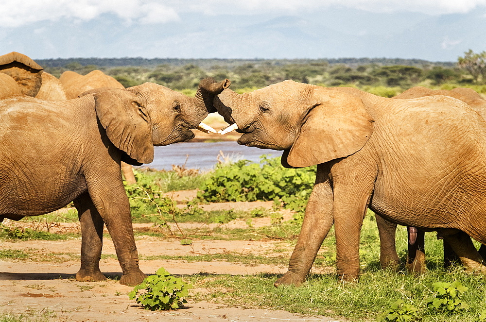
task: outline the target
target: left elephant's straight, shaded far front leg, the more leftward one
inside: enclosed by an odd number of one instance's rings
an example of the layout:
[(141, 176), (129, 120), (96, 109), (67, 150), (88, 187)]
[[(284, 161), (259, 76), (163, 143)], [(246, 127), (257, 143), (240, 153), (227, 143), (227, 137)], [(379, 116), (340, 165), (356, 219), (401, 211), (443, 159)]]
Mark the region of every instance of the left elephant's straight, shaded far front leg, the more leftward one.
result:
[(81, 223), (81, 268), (76, 273), (80, 282), (103, 281), (100, 257), (103, 247), (103, 219), (87, 193), (74, 200)]

